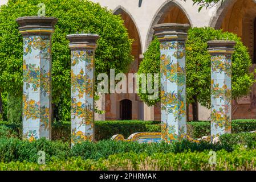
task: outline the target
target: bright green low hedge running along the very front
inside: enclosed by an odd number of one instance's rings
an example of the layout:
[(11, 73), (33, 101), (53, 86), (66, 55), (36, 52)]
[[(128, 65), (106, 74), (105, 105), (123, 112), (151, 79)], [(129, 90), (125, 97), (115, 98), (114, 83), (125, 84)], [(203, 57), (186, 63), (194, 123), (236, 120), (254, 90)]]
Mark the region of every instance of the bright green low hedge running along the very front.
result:
[(0, 170), (125, 170), (125, 171), (148, 171), (148, 170), (256, 170), (256, 150), (225, 150), (217, 151), (216, 165), (209, 164), (209, 151), (186, 152), (186, 153), (159, 153), (155, 155), (136, 154), (129, 152), (126, 154), (116, 154), (108, 159), (83, 160), (82, 158), (72, 158), (68, 160), (54, 160), (39, 165), (28, 162), (0, 163)]

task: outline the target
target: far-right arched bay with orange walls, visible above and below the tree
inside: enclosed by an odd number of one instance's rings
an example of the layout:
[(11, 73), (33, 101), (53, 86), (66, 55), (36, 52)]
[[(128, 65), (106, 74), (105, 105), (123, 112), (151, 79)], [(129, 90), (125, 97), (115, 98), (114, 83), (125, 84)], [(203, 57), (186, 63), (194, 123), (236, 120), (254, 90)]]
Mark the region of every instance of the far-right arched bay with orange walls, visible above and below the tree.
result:
[[(216, 29), (237, 34), (243, 44), (248, 48), (253, 66), (256, 68), (256, 2), (254, 0), (226, 0), (217, 10), (210, 26)], [(233, 119), (256, 118), (256, 84), (251, 93), (239, 100), (233, 101)]]

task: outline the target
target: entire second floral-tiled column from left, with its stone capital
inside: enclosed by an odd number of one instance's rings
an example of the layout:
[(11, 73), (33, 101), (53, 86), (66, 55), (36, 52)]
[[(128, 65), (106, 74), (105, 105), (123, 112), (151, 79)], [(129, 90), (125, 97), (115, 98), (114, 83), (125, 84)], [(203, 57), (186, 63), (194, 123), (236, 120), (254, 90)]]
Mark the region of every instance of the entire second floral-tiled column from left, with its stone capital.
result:
[(68, 35), (71, 49), (71, 144), (94, 141), (94, 54), (97, 34)]

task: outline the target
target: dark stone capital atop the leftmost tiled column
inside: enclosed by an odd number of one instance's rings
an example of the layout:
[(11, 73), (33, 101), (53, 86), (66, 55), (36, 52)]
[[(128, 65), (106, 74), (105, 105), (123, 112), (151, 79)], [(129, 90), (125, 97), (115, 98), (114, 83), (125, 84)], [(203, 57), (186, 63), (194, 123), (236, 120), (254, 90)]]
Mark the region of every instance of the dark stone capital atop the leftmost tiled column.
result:
[(17, 18), (16, 22), (19, 24), (19, 32), (22, 36), (50, 36), (54, 32), (54, 26), (58, 19), (44, 16), (23, 16)]

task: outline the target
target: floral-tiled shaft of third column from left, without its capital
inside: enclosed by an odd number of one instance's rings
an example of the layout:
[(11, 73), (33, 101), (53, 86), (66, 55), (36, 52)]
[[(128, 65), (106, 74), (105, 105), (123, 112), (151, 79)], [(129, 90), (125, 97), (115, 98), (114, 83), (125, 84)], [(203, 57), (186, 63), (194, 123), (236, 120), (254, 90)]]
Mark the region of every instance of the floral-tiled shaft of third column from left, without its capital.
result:
[(161, 121), (166, 142), (186, 135), (185, 43), (164, 42), (161, 49)]

